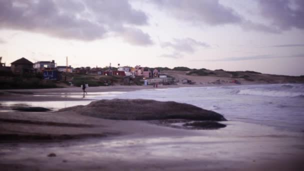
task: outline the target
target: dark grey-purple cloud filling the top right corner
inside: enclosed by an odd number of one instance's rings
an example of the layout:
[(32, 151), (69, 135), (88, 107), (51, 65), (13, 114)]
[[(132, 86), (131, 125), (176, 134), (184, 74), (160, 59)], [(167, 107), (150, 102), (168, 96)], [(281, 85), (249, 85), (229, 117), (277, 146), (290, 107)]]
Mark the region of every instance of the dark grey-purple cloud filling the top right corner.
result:
[(304, 0), (258, 0), (260, 14), (280, 30), (304, 28)]

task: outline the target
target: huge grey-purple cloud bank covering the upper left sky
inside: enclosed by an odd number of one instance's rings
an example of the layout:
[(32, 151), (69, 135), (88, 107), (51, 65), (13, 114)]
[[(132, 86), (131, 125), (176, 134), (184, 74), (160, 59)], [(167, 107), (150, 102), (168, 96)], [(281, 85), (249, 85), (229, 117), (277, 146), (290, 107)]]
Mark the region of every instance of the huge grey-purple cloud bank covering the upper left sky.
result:
[(133, 27), (137, 36), (128, 38), (129, 43), (150, 43), (142, 40), (147, 34), (134, 27), (146, 24), (146, 14), (133, 9), (127, 0), (0, 0), (0, 28), (66, 39), (101, 39)]

